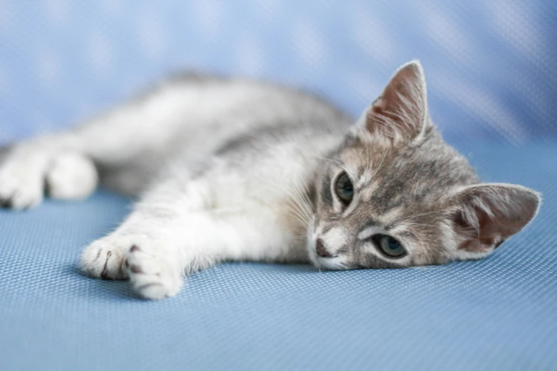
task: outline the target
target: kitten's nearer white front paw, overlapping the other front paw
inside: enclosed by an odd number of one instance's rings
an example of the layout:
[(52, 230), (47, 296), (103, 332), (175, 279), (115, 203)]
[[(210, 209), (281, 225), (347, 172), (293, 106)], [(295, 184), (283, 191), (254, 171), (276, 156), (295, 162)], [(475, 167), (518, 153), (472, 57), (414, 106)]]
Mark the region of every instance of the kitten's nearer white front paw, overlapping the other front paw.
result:
[(178, 294), (184, 278), (175, 264), (149, 243), (134, 244), (126, 256), (129, 279), (145, 299), (164, 299)]

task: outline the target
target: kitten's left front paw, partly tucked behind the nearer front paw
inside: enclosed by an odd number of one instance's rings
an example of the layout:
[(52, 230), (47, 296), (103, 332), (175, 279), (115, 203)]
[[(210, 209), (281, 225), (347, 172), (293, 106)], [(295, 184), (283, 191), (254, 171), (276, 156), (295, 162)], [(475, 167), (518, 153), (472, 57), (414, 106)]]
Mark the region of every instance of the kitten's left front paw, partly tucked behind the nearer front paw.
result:
[(117, 241), (105, 237), (90, 244), (81, 254), (81, 269), (88, 276), (102, 279), (127, 279), (124, 254)]

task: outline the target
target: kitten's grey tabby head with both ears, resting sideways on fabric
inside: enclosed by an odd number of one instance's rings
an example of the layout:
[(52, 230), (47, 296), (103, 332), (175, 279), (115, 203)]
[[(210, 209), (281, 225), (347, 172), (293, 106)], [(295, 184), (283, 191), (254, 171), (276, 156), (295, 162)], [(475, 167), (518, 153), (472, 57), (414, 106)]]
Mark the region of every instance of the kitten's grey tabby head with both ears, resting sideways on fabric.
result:
[(479, 259), (536, 215), (540, 195), (481, 184), (428, 115), (423, 70), (400, 68), (319, 167), (307, 247), (318, 267)]

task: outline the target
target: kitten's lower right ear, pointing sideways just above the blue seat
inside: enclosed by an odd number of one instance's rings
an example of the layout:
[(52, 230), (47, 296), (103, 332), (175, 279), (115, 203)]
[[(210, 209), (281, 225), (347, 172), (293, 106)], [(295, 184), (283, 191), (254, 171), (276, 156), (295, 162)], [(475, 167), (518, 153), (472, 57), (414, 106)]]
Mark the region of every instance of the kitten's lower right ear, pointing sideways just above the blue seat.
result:
[(541, 196), (521, 185), (470, 185), (450, 200), (457, 237), (455, 258), (477, 259), (519, 232), (536, 213)]

